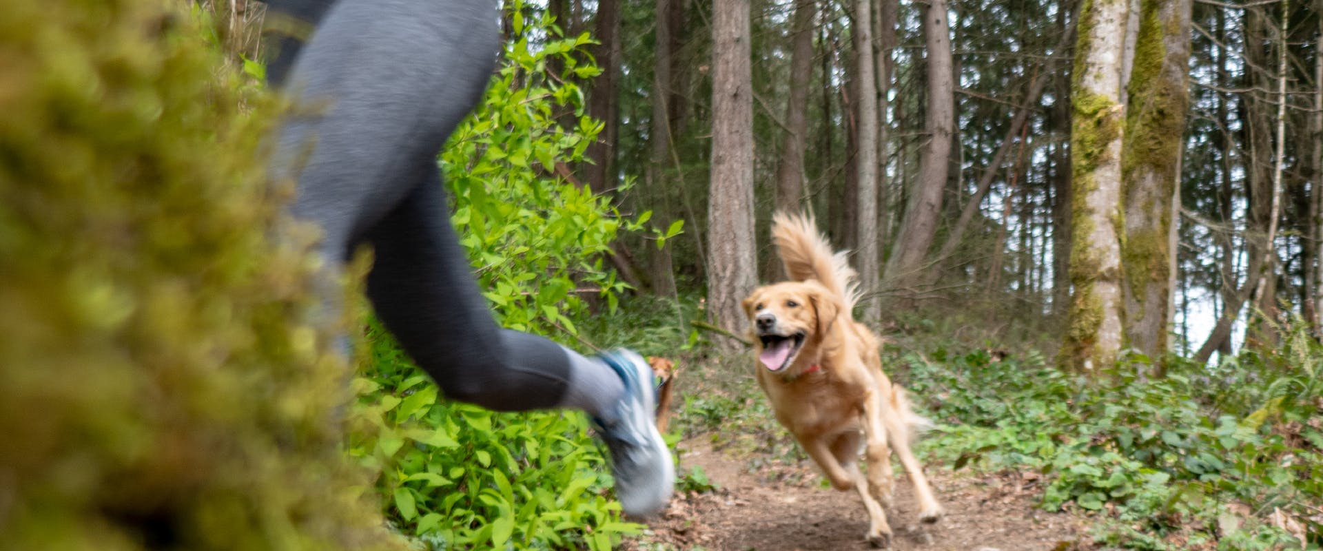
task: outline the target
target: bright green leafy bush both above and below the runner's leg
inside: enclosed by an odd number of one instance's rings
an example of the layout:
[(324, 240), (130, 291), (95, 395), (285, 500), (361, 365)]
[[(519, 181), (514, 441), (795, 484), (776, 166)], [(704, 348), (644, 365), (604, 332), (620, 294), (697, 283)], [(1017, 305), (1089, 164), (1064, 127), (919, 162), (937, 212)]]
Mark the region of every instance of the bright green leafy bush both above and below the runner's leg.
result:
[[(500, 322), (569, 340), (586, 312), (582, 289), (615, 308), (624, 284), (602, 267), (602, 252), (644, 221), (556, 172), (583, 161), (601, 129), (582, 116), (572, 83), (597, 73), (582, 52), (587, 36), (561, 38), (540, 12), (509, 9), (520, 37), (505, 44), (499, 74), (441, 165), (452, 222)], [(553, 58), (564, 74), (548, 73)], [(569, 114), (576, 126), (562, 127)], [(606, 550), (640, 530), (620, 521), (582, 414), (450, 402), (376, 325), (365, 349), (355, 383), (364, 429), (351, 453), (382, 469), (388, 517), (406, 533), (438, 548)]]

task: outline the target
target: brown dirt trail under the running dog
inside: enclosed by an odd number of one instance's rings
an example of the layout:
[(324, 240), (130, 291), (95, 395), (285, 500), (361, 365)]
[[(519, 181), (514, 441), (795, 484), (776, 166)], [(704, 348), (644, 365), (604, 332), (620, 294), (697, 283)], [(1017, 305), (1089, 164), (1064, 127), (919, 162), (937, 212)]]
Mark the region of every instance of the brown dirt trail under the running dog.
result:
[[(747, 459), (714, 451), (712, 437), (680, 443), (681, 466), (701, 466), (720, 489), (677, 496), (651, 523), (643, 542), (664, 548), (708, 551), (868, 550), (868, 521), (859, 496), (820, 486), (810, 461), (750, 472)], [(1066, 514), (1037, 509), (1032, 474), (963, 477), (929, 468), (947, 515), (917, 525), (912, 486), (897, 480), (896, 507), (888, 518), (892, 550), (1017, 551), (1069, 550), (1082, 533)], [(656, 548), (643, 543), (636, 548)]]

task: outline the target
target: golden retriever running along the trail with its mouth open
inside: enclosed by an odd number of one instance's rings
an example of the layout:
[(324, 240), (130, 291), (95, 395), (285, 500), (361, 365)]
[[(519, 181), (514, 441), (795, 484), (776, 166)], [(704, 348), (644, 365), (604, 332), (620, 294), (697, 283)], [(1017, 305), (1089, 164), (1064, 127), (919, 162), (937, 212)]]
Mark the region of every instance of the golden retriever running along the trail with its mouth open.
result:
[[(758, 385), (777, 420), (832, 486), (859, 492), (869, 519), (865, 538), (886, 547), (892, 449), (914, 482), (919, 519), (931, 523), (943, 514), (910, 451), (912, 428), (926, 420), (882, 373), (878, 337), (851, 316), (859, 291), (845, 254), (832, 254), (804, 215), (777, 213), (771, 234), (790, 281), (759, 287), (744, 300), (758, 351)], [(856, 466), (861, 443), (867, 474)]]

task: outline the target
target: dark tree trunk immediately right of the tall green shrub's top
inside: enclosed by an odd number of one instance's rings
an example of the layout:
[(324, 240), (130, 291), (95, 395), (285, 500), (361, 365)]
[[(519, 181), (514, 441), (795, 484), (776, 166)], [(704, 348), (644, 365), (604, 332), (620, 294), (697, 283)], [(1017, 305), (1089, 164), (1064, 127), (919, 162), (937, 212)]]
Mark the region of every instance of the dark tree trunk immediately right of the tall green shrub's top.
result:
[(615, 143), (619, 131), (617, 116), (618, 73), (620, 69), (620, 5), (619, 0), (599, 0), (597, 29), (593, 33), (601, 44), (593, 49), (602, 74), (593, 79), (587, 96), (587, 115), (605, 124), (597, 140), (587, 147), (587, 157), (594, 164), (586, 166), (589, 188), (593, 193), (606, 193), (615, 188)]

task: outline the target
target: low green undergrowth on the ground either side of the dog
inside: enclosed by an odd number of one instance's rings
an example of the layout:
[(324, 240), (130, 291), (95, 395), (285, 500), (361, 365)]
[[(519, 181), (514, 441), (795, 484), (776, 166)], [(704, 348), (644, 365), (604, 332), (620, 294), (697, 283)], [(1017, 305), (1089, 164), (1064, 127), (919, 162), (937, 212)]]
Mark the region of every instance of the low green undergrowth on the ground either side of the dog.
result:
[[(1081, 548), (1323, 544), (1323, 385), (1315, 377), (1323, 350), (1303, 329), (1282, 328), (1282, 348), (1245, 350), (1216, 366), (1160, 358), (1164, 378), (1142, 377), (1151, 361), (1139, 355), (1084, 377), (1058, 370), (1032, 342), (953, 338), (958, 321), (888, 325), (886, 369), (935, 422), (918, 445), (929, 469), (1031, 480), (1044, 510), (1090, 526)], [(773, 422), (746, 358), (703, 350), (680, 353), (684, 436), (725, 441), (750, 470), (804, 462)], [(710, 489), (701, 470), (681, 474), (681, 489)]]

